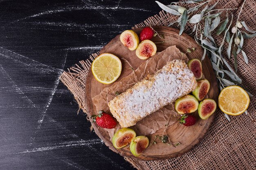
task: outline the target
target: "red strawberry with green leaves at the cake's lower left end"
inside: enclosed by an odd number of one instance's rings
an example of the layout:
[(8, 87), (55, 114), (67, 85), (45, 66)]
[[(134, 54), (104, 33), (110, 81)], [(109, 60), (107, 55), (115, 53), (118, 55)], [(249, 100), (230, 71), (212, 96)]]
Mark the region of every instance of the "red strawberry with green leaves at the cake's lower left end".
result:
[(99, 111), (98, 115), (92, 115), (91, 118), (92, 122), (96, 121), (97, 125), (101, 128), (112, 129), (115, 128), (117, 125), (114, 118), (105, 113), (104, 111)]

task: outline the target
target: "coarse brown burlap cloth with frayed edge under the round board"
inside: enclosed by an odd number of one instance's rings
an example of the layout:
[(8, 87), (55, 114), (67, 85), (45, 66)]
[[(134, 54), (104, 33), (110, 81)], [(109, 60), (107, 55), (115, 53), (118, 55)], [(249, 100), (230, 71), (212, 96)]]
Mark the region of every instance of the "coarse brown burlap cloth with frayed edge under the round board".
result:
[[(217, 0), (213, 0), (211, 4)], [(236, 8), (234, 10), (234, 20), (236, 21), (240, 11), (242, 0), (220, 0), (216, 9)], [(185, 5), (192, 7), (193, 4)], [(250, 29), (256, 29), (256, 1), (247, 0), (240, 15), (240, 21), (245, 21)], [(137, 24), (134, 28), (144, 27), (148, 25), (164, 25), (168, 26), (175, 21), (177, 16), (161, 11), (158, 15), (148, 18), (144, 22)], [(223, 18), (225, 15), (221, 15)], [(234, 22), (235, 23), (235, 22)], [(177, 25), (173, 25), (176, 28)], [(193, 27), (186, 26), (185, 33), (191, 33)], [(222, 35), (223, 36), (223, 35)], [(222, 36), (216, 36), (213, 33), (213, 38), (219, 44), (222, 41)], [(125, 157), (135, 168), (139, 170), (249, 170), (256, 168), (256, 38), (245, 40), (243, 50), (249, 58), (249, 64), (245, 64), (243, 56), (238, 55), (238, 75), (243, 80), (243, 86), (251, 92), (254, 97), (248, 108), (248, 115), (245, 113), (231, 117), (231, 122), (227, 121), (224, 114), (217, 110), (215, 119), (209, 128), (207, 134), (202, 141), (186, 154), (158, 161), (141, 161), (138, 159)], [(227, 44), (225, 44), (225, 48)], [(91, 62), (97, 57), (98, 53), (90, 56), (90, 59), (81, 61), (75, 67), (64, 72), (60, 79), (74, 94), (74, 98), (79, 104), (79, 107), (85, 109), (85, 80), (90, 69)], [(234, 58), (230, 59), (225, 56), (228, 63), (234, 66)]]

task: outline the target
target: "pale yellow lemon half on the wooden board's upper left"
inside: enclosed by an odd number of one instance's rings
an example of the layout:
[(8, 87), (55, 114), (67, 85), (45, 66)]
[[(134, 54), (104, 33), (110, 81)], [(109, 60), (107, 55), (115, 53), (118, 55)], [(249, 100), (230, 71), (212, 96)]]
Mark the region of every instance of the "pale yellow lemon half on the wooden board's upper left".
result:
[(92, 74), (98, 82), (111, 84), (117, 80), (122, 71), (120, 59), (110, 53), (99, 55), (92, 62)]

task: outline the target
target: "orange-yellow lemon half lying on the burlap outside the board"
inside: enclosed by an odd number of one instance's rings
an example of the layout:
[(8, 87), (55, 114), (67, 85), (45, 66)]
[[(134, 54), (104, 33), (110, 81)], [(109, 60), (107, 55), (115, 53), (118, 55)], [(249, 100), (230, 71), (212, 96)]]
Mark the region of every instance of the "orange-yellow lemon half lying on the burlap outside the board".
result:
[(247, 92), (239, 86), (223, 88), (218, 98), (218, 105), (222, 112), (228, 115), (241, 115), (247, 110), (250, 98)]

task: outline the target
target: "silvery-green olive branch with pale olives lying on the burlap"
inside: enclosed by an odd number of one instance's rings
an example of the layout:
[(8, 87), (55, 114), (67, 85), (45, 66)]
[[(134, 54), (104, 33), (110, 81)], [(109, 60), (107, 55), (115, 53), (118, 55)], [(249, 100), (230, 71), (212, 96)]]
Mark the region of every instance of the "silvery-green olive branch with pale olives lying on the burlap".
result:
[[(238, 18), (234, 23), (235, 26), (232, 28), (231, 25), (233, 24), (234, 13), (238, 11), (238, 8), (215, 9), (219, 1), (209, 6), (210, 2), (212, 2), (212, 0), (187, 0), (184, 2), (172, 2), (170, 5), (164, 5), (156, 1), (159, 7), (164, 11), (179, 16), (176, 21), (171, 22), (168, 25), (172, 26), (173, 24), (177, 24), (177, 26), (180, 27), (179, 35), (182, 35), (187, 23), (193, 24), (193, 30), (189, 35), (194, 33), (195, 41), (204, 49), (201, 60), (204, 60), (206, 54), (210, 57), (220, 90), (231, 85), (242, 86), (242, 79), (236, 74), (238, 70), (237, 55), (241, 52), (245, 63), (248, 64), (248, 57), (245, 51), (243, 51), (244, 40), (256, 36), (256, 31), (249, 29), (245, 21), (239, 20), (246, 0), (240, 3), (241, 9)], [(195, 6), (186, 9), (185, 7), (182, 7), (184, 4), (195, 4)], [(202, 7), (204, 8), (202, 9)], [(195, 12), (197, 14), (194, 14)], [(221, 21), (220, 15), (222, 13), (226, 13), (226, 17), (225, 20)], [(242, 29), (243, 27), (246, 31)], [(230, 29), (231, 33), (229, 32)], [(216, 35), (222, 35), (220, 46), (216, 44), (212, 37), (214, 30), (216, 31)], [(224, 50), (225, 41), (228, 43), (228, 48)], [(223, 51), (226, 51), (226, 54)], [(229, 59), (233, 55), (235, 71), (228, 64), (224, 55), (227, 55)], [(227, 70), (225, 70), (225, 68), (227, 68)], [(252, 97), (251, 93), (248, 91), (247, 93)], [(247, 114), (247, 112), (245, 113)], [(225, 117), (230, 121), (228, 115), (225, 114)]]

